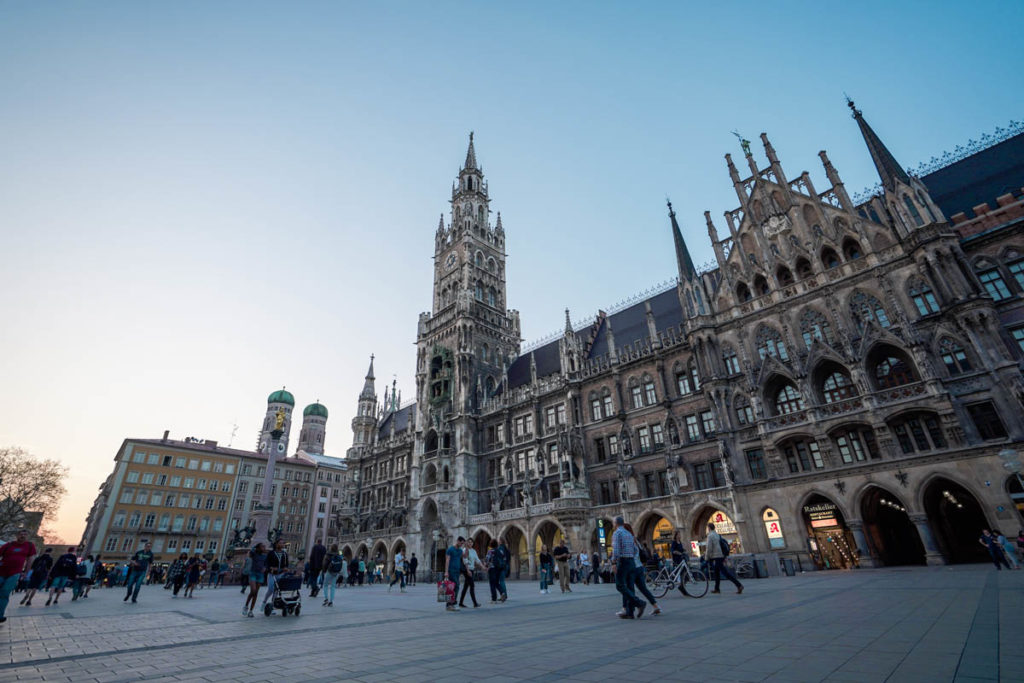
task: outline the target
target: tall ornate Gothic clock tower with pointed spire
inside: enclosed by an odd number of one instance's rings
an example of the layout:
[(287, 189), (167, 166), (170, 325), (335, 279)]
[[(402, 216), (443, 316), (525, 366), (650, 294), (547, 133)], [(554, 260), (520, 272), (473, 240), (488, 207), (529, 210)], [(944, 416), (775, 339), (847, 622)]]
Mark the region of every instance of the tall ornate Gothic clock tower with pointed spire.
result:
[[(434, 233), (433, 306), (417, 334), (417, 447), (411, 494), (433, 530), (460, 526), (476, 505), (476, 415), (519, 353), (519, 313), (507, 308), (505, 229), (492, 220), (473, 134)], [(430, 501), (424, 499), (429, 498)], [(416, 518), (416, 517), (414, 517)], [(421, 522), (424, 523), (424, 522)], [(424, 533), (431, 529), (421, 528)], [(425, 544), (429, 547), (429, 543)]]

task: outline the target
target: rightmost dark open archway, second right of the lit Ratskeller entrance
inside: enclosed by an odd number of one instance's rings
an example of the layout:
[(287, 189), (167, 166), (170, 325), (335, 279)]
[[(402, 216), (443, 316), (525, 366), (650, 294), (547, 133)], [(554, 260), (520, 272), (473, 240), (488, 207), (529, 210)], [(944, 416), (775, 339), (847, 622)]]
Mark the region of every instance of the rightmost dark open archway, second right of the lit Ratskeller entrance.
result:
[(988, 528), (988, 520), (971, 492), (955, 481), (938, 477), (925, 488), (924, 502), (946, 561), (951, 564), (988, 561), (988, 552), (978, 543), (981, 529)]

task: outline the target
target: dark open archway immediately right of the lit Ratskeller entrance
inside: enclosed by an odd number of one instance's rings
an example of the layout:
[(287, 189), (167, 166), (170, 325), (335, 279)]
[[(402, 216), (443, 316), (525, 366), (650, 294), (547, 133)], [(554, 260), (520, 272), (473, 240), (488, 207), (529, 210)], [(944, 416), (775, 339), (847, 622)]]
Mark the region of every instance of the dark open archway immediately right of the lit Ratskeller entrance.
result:
[(906, 507), (894, 494), (871, 486), (861, 497), (861, 517), (871, 555), (883, 566), (924, 564), (925, 546)]

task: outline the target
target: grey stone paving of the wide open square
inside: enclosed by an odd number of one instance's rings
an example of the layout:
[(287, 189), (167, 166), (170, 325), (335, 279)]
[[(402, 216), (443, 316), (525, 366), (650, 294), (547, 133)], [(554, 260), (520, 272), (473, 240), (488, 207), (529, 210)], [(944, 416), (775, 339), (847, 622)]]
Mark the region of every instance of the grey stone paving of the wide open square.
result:
[(613, 586), (445, 613), (431, 585), (304, 597), (298, 617), (241, 615), (236, 588), (142, 589), (19, 607), (0, 627), (0, 682), (47, 681), (1024, 681), (1024, 571), (990, 566), (752, 580), (737, 596), (662, 600), (614, 618)]

